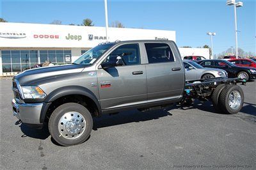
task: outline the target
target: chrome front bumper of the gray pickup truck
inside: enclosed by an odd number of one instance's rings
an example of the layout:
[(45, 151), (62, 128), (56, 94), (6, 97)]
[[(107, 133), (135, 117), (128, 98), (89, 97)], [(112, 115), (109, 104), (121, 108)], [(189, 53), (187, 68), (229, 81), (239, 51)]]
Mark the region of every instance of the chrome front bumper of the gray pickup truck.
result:
[(42, 124), (40, 123), (42, 107), (43, 103), (19, 104), (15, 99), (12, 100), (13, 115), (23, 123)]

